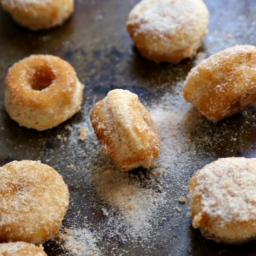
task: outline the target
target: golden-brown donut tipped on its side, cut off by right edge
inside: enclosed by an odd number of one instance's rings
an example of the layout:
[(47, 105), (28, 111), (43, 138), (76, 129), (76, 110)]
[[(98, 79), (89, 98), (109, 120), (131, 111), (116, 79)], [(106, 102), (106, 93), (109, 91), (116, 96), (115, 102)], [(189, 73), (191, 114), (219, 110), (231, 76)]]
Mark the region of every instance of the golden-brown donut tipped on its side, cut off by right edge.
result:
[(256, 101), (256, 47), (236, 45), (194, 67), (183, 97), (209, 120), (219, 121)]

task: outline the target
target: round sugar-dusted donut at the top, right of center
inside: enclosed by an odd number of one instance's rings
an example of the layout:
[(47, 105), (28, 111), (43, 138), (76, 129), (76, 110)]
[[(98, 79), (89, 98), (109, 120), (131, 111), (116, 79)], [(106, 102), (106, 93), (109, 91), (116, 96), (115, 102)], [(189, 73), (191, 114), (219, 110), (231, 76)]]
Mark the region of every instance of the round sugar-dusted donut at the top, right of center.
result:
[(129, 13), (127, 30), (147, 59), (180, 62), (195, 55), (208, 21), (202, 0), (142, 0)]

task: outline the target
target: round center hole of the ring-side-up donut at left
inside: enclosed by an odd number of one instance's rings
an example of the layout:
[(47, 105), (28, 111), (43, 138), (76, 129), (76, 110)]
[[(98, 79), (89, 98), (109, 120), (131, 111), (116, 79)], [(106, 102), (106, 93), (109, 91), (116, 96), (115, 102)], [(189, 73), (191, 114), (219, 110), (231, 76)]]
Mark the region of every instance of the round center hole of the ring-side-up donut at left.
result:
[(38, 67), (31, 81), (31, 88), (41, 91), (50, 86), (55, 80), (55, 75), (50, 67)]

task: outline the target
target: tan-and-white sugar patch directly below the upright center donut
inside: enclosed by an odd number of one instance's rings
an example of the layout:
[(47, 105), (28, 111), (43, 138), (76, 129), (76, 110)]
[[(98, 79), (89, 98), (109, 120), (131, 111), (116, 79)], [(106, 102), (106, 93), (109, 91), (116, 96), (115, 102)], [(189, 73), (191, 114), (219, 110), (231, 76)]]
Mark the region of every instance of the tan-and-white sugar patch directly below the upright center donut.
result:
[[(110, 167), (110, 166), (109, 166)], [(118, 211), (118, 221), (126, 226), (126, 235), (142, 240), (152, 231), (152, 221), (157, 208), (164, 204), (164, 195), (156, 192), (150, 180), (144, 180), (142, 173), (133, 175), (117, 169), (103, 167), (93, 173), (94, 187), (101, 199)], [(142, 179), (142, 181), (141, 181)], [(114, 217), (115, 210), (108, 211)], [(128, 237), (122, 237), (127, 241)]]

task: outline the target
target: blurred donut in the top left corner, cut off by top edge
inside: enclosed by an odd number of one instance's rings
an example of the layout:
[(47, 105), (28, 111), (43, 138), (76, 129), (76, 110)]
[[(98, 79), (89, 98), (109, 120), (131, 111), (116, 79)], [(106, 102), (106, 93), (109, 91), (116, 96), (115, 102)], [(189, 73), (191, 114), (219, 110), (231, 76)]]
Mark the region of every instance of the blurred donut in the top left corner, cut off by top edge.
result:
[(1, 0), (13, 20), (31, 30), (61, 25), (74, 11), (74, 0)]

